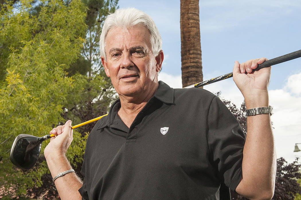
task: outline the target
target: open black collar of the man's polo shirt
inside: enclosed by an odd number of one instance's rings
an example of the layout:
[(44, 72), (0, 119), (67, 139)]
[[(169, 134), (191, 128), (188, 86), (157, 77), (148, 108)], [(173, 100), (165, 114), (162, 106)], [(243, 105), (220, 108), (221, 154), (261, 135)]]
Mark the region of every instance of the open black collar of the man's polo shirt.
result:
[[(166, 104), (173, 104), (174, 103), (174, 89), (169, 87), (163, 81), (159, 81), (159, 86), (158, 86), (154, 96), (151, 97), (151, 99), (153, 99), (153, 98), (156, 98)], [(109, 114), (103, 118), (103, 120), (102, 120), (100, 126), (98, 126), (97, 130), (102, 129), (106, 126), (110, 126), (113, 123), (115, 115), (117, 114), (120, 107), (121, 107), (120, 99), (117, 99), (111, 105)]]

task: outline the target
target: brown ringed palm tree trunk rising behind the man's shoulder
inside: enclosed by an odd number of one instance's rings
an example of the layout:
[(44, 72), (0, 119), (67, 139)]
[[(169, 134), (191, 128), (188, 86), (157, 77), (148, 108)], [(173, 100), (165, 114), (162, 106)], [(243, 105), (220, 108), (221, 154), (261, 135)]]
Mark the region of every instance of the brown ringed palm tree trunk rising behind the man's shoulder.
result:
[(199, 0), (181, 0), (182, 86), (203, 81)]

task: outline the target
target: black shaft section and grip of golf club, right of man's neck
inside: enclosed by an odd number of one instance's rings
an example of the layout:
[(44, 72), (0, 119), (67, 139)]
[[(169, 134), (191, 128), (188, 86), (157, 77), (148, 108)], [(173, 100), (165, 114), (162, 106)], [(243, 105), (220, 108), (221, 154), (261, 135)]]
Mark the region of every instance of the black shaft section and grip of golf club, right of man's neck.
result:
[[(255, 69), (253, 69), (253, 71), (260, 70), (264, 67), (269, 67), (269, 66), (272, 66), (272, 65), (275, 65), (275, 64), (279, 64), (279, 63), (286, 62), (286, 61), (293, 60), (295, 58), (300, 58), (300, 57), (301, 57), (301, 49), (298, 50), (298, 51), (295, 51), (295, 52), (291, 52), (291, 53), (288, 53), (288, 54), (285, 54), (285, 55), (281, 55), (277, 58), (272, 58), (270, 60), (264, 61), (262, 64), (259, 64)], [(230, 72), (230, 73), (224, 74), (222, 76), (215, 77), (213, 79), (208, 79), (206, 81), (199, 82), (199, 83), (196, 83), (194, 85), (189, 85), (185, 88), (199, 88), (199, 87), (202, 87), (204, 85), (208, 85), (210, 83), (215, 83), (215, 82), (218, 82), (218, 81), (221, 81), (221, 80), (224, 80), (224, 79), (231, 78), (232, 76), (233, 76), (233, 72)]]

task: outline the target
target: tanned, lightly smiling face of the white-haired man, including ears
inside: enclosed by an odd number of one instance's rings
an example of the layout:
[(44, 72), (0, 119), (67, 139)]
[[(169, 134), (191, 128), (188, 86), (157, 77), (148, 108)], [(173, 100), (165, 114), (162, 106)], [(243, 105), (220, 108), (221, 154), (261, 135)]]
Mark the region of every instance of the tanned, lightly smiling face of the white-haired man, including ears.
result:
[(156, 86), (163, 52), (153, 55), (147, 28), (111, 29), (106, 37), (106, 55), (107, 61), (101, 61), (119, 96), (141, 95)]

